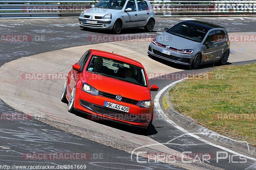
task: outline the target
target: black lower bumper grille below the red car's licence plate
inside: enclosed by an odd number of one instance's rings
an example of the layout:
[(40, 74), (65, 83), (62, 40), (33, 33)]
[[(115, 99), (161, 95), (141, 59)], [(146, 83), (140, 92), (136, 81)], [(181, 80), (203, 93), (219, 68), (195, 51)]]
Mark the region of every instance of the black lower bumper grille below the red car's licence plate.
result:
[(112, 118), (116, 119), (121, 119), (121, 120), (126, 120), (126, 121), (133, 121), (136, 118), (136, 115), (129, 114), (129, 113), (122, 113), (117, 110), (112, 110), (104, 107), (99, 107), (94, 105), (94, 110), (101, 114), (101, 115), (106, 115)]

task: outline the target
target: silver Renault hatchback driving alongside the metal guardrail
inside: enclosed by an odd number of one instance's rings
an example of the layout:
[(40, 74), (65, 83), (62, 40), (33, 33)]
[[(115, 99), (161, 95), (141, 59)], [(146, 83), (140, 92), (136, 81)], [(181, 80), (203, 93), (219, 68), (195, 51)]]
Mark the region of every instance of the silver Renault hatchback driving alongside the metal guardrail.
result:
[(151, 32), (155, 26), (155, 13), (147, 0), (102, 0), (79, 16), (81, 28), (112, 30), (144, 27)]

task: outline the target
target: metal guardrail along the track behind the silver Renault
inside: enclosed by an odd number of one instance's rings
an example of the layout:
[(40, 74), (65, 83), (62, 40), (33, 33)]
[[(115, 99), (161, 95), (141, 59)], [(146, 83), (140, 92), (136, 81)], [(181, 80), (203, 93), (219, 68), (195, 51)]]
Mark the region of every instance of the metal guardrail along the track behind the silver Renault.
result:
[[(0, 19), (78, 18), (99, 1), (12, 0), (0, 1)], [(156, 17), (256, 16), (256, 1), (149, 1)]]

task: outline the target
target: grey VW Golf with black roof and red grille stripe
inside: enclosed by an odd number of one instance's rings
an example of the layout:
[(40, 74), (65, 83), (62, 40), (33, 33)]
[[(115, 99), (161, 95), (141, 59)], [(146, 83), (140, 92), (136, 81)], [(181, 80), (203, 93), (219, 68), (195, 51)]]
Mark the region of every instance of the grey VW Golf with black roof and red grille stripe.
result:
[(205, 63), (228, 61), (230, 45), (227, 30), (208, 22), (183, 21), (156, 36), (148, 54), (197, 69)]

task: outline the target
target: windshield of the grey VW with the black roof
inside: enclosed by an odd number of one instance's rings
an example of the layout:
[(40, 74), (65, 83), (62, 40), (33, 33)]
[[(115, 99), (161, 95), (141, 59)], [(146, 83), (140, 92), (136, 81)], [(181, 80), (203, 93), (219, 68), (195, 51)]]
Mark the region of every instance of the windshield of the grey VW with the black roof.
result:
[(182, 23), (173, 26), (166, 32), (196, 42), (202, 42), (205, 34), (207, 33), (204, 29), (197, 28), (189, 24), (184, 25)]

